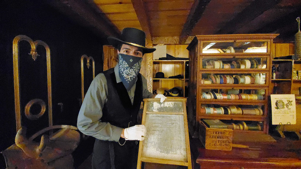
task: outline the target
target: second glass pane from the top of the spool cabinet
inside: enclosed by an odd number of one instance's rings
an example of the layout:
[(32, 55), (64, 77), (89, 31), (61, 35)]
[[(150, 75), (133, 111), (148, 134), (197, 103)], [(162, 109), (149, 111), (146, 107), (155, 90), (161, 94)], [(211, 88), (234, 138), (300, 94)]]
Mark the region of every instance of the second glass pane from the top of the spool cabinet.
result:
[(267, 69), (267, 58), (203, 58), (202, 67), (203, 69)]

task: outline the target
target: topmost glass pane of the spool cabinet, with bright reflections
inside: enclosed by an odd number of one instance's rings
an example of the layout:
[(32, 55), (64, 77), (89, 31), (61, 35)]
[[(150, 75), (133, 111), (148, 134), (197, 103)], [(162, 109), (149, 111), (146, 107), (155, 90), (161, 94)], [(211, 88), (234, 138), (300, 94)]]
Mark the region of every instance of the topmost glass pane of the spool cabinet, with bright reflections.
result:
[(267, 53), (267, 42), (204, 42), (202, 53)]

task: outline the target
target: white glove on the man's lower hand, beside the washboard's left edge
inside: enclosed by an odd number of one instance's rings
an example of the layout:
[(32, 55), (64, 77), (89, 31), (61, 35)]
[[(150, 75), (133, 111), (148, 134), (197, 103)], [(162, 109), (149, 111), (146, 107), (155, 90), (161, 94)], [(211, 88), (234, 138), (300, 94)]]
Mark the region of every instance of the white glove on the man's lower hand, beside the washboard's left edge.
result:
[(146, 134), (146, 128), (144, 125), (135, 125), (124, 129), (124, 137), (126, 140), (139, 140), (143, 141)]

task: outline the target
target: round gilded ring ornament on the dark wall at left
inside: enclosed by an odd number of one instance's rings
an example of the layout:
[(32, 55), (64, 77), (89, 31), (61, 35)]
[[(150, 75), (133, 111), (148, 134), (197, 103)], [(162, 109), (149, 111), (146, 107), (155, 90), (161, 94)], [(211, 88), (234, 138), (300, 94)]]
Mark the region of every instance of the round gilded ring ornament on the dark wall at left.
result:
[[(30, 108), (34, 104), (39, 104), (41, 106), (41, 111), (39, 112), (39, 114), (33, 115), (30, 112)], [(45, 111), (46, 111), (46, 103), (42, 99), (33, 99), (33, 100), (30, 100), (26, 104), (26, 106), (25, 106), (25, 115), (30, 120), (37, 120), (37, 119), (39, 119), (45, 113)]]

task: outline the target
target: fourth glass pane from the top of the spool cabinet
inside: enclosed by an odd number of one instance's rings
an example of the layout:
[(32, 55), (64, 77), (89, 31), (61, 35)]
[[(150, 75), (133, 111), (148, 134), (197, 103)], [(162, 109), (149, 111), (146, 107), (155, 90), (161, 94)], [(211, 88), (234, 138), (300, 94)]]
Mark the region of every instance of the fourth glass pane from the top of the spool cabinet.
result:
[(201, 99), (265, 100), (265, 89), (201, 89)]

